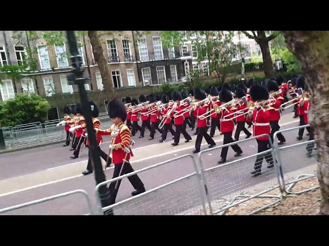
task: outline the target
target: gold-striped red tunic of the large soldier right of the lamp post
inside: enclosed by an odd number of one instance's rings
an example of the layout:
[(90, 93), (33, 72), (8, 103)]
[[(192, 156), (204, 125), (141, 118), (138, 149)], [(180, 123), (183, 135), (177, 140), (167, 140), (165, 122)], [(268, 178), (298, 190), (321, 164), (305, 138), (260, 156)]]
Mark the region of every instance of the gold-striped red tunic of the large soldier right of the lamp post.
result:
[[(113, 129), (116, 126), (113, 124), (109, 129), (107, 130), (99, 130), (99, 135), (111, 135)], [(126, 153), (124, 151), (124, 148), (127, 146), (130, 146), (130, 130), (125, 124), (120, 124), (119, 126), (119, 133), (116, 137), (112, 138), (112, 146), (114, 149), (112, 150), (112, 163), (114, 165), (120, 164), (123, 162), (124, 157), (126, 156), (125, 160), (129, 161), (130, 156), (133, 156), (132, 151), (130, 153)]]

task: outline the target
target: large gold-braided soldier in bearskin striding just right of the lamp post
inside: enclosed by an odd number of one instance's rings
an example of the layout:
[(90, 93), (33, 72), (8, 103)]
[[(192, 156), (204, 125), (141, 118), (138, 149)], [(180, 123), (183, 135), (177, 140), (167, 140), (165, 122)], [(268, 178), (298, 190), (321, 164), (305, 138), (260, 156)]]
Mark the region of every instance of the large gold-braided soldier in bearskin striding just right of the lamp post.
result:
[[(131, 150), (132, 140), (130, 137), (129, 128), (123, 124), (127, 114), (123, 103), (117, 99), (110, 101), (107, 105), (107, 112), (113, 125), (107, 130), (98, 130), (97, 134), (112, 136), (111, 145), (109, 145), (109, 148), (112, 150), (112, 162), (114, 164), (112, 178), (116, 178), (118, 176), (134, 172), (134, 169), (129, 162), (130, 157), (133, 156)], [(145, 192), (144, 184), (137, 174), (129, 176), (128, 179), (135, 188), (135, 191), (132, 192), (133, 196)], [(120, 183), (121, 179), (112, 182), (108, 187), (112, 204), (115, 203)]]

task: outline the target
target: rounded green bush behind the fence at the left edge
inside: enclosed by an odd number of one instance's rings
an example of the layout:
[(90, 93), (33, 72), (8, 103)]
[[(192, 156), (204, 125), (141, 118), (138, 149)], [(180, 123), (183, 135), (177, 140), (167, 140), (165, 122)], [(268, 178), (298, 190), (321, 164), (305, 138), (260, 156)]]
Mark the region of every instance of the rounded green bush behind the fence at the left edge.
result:
[(2, 127), (44, 122), (49, 109), (48, 101), (35, 93), (16, 94), (15, 98), (0, 103), (0, 122)]

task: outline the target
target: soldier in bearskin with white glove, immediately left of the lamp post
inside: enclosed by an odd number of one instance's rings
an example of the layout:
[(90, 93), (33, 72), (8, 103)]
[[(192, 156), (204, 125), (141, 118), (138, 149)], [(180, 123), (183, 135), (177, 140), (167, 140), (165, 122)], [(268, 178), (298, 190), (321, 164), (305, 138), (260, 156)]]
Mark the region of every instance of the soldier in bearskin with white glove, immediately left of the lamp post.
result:
[(81, 105), (77, 104), (76, 105), (76, 113), (78, 116), (78, 119), (76, 121), (76, 126), (71, 127), (69, 129), (70, 132), (76, 132), (76, 140), (75, 140), (75, 151), (73, 152), (73, 155), (70, 156), (71, 159), (75, 159), (79, 157), (79, 152), (80, 152), (80, 148), (81, 145), (83, 144), (83, 140), (85, 136), (84, 136), (84, 132), (85, 132), (85, 128), (86, 128), (86, 121), (84, 119), (84, 117), (81, 115)]

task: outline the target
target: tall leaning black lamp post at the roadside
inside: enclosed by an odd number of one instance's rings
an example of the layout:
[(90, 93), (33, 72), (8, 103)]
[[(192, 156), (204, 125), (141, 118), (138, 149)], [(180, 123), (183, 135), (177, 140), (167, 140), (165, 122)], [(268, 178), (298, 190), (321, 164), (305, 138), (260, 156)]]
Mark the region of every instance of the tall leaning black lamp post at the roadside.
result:
[[(84, 84), (87, 84), (87, 79), (84, 77), (84, 68), (82, 67), (82, 57), (79, 54), (78, 46), (74, 31), (66, 31), (66, 36), (68, 40), (71, 66), (73, 70), (71, 74), (67, 75), (69, 85), (77, 85), (79, 88), (80, 101), (82, 106), (82, 112), (86, 120), (88, 138), (90, 142), (90, 151), (92, 152), (92, 166), (95, 173), (96, 185), (105, 181), (105, 174), (103, 172), (101, 160), (99, 157), (99, 150), (97, 148), (96, 134), (93, 127), (92, 113), (90, 110), (90, 104), (88, 101), (87, 93), (84, 88)], [(101, 186), (99, 189), (99, 196), (102, 203), (102, 207), (107, 207), (111, 205), (111, 200), (109, 198), (109, 190), (107, 186)], [(112, 214), (112, 210), (105, 211), (104, 215)]]

